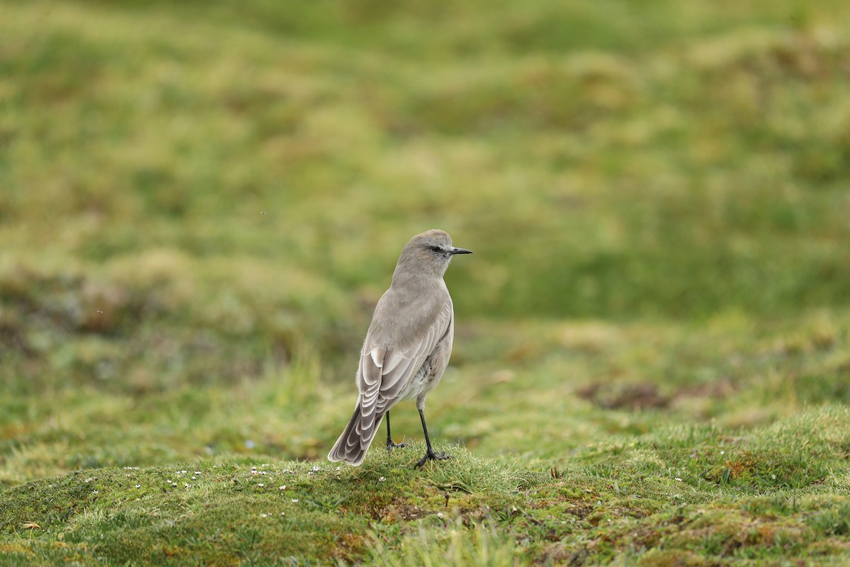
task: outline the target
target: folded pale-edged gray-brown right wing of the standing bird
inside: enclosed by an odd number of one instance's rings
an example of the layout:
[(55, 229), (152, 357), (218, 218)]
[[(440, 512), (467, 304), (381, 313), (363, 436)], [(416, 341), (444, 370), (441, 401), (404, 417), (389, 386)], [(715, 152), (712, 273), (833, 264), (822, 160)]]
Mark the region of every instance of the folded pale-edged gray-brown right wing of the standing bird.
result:
[(373, 346), (369, 349), (371, 345), (366, 343), (366, 348), (360, 354), (358, 383), (364, 429), (374, 423), (376, 416), (382, 416), (389, 405), (404, 393), (416, 371), (449, 330), (451, 317), (451, 302), (447, 301), (431, 325), (403, 346), (393, 349)]

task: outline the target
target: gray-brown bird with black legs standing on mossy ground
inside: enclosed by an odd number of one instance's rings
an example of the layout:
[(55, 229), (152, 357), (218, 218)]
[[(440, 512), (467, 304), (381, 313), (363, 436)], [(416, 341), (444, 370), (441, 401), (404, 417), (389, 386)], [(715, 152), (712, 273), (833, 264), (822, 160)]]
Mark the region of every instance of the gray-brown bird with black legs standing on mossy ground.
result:
[(331, 461), (357, 466), (375, 439), (381, 419), (387, 417), (387, 451), (396, 445), (389, 433), (389, 409), (400, 400), (416, 398), (428, 450), (416, 468), (429, 459), (450, 458), (431, 448), (425, 425), (425, 396), (437, 387), (449, 364), (455, 336), (455, 310), (443, 281), (455, 254), (471, 254), (451, 246), (442, 230), (428, 230), (411, 238), (399, 256), (393, 282), (377, 302), (357, 370), (360, 395), (354, 415), (337, 444)]

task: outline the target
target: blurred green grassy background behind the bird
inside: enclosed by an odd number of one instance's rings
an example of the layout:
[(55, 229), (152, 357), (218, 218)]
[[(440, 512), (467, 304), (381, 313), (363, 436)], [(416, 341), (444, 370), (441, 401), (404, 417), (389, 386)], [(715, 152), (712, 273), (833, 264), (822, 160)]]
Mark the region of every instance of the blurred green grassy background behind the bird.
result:
[(445, 439), (563, 461), (850, 400), (847, 22), (839, 0), (3, 0), (0, 484), (323, 456), (430, 228), (475, 252), (446, 276)]

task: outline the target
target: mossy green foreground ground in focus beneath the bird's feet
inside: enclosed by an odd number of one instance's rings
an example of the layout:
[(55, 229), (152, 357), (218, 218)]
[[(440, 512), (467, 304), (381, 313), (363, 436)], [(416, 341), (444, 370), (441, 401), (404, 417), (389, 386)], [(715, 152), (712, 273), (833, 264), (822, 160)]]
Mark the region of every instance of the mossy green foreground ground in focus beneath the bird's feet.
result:
[(832, 405), (735, 437), (664, 428), (548, 474), (460, 446), (418, 471), (422, 443), (361, 468), (231, 456), (82, 470), (7, 490), (0, 530), (10, 563), (847, 560), (848, 419)]

